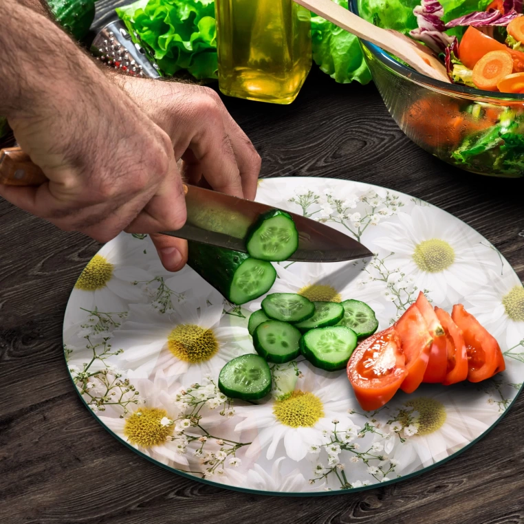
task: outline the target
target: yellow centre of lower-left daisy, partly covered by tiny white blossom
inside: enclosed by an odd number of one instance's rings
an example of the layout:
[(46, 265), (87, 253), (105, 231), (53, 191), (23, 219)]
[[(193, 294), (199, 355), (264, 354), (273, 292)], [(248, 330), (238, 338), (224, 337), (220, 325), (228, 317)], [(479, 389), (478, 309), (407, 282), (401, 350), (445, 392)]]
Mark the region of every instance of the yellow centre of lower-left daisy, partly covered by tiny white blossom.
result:
[(130, 444), (150, 448), (165, 444), (173, 435), (173, 426), (162, 426), (160, 421), (167, 417), (165, 409), (140, 408), (126, 420), (124, 435)]

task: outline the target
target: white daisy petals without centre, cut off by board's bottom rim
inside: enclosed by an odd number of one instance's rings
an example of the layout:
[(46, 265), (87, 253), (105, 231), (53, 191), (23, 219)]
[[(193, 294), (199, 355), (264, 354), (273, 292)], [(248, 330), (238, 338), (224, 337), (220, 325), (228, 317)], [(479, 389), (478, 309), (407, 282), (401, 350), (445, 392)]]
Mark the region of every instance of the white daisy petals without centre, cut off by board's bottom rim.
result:
[(285, 457), (276, 459), (270, 473), (259, 464), (254, 464), (247, 473), (226, 468), (224, 476), (232, 485), (257, 491), (302, 493), (315, 492), (325, 488), (325, 482), (312, 484), (305, 479), (298, 469), (282, 474), (281, 469), (284, 460)]

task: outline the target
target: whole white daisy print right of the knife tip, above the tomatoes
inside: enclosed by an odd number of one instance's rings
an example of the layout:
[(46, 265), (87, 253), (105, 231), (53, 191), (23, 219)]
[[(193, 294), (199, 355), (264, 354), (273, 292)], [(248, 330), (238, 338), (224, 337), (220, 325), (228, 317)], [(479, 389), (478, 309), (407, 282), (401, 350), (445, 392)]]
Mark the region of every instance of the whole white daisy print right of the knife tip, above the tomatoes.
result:
[(387, 236), (373, 242), (394, 252), (404, 274), (415, 276), (419, 290), (429, 290), (438, 303), (451, 303), (489, 281), (482, 237), (433, 206), (415, 206), (411, 215), (400, 212), (400, 223), (384, 223)]

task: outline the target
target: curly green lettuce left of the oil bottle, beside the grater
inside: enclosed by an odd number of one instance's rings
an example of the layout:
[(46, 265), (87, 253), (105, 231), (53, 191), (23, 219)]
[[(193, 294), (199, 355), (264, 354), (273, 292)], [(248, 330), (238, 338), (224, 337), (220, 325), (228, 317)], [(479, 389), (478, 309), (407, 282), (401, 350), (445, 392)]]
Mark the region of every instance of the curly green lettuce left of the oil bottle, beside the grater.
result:
[(139, 0), (116, 12), (163, 74), (184, 69), (198, 79), (218, 77), (214, 0)]

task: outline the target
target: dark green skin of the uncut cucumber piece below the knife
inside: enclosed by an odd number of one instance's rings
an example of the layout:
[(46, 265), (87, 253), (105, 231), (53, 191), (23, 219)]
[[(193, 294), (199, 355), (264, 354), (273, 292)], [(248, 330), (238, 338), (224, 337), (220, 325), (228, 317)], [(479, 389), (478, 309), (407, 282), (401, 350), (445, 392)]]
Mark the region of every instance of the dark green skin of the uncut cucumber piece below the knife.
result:
[[(195, 270), (206, 282), (215, 287), (230, 303), (241, 305), (231, 300), (231, 284), (234, 273), (241, 264), (250, 259), (247, 253), (215, 248), (199, 242), (188, 241), (188, 265)], [(269, 265), (270, 263), (267, 262)], [(274, 271), (276, 279), (276, 271)], [(263, 293), (261, 293), (263, 295)], [(261, 296), (259, 295), (259, 296)], [(254, 298), (252, 299), (254, 300)]]

